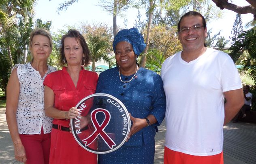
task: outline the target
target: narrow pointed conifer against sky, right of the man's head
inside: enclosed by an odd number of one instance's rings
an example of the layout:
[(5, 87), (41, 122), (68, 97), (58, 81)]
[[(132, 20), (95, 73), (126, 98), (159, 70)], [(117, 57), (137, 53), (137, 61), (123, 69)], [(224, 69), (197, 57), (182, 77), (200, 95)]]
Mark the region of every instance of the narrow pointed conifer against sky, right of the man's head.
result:
[(237, 14), (233, 28), (231, 31), (231, 36), (229, 37), (230, 39), (230, 44), (234, 44), (237, 40), (238, 35), (243, 31), (243, 25), (242, 25), (242, 18), (241, 14)]

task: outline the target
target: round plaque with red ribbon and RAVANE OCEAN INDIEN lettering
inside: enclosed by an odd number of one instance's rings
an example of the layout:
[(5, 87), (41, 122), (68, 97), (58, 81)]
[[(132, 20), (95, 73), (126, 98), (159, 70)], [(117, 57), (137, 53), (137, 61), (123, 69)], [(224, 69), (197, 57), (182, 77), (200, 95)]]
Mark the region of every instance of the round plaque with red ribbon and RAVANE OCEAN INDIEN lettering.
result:
[(70, 119), (73, 136), (89, 152), (106, 154), (121, 147), (130, 132), (130, 116), (112, 95), (95, 93), (75, 107), (80, 115)]

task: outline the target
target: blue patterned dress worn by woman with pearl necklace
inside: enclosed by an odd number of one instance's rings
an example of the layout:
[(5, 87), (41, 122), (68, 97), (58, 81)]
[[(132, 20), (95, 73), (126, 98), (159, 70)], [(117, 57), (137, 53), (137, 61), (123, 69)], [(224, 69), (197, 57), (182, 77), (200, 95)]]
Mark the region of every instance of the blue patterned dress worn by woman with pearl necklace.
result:
[[(133, 75), (123, 76), (128, 81)], [(164, 119), (166, 99), (160, 76), (140, 68), (132, 81), (123, 83), (117, 67), (100, 73), (96, 93), (118, 98), (133, 117), (155, 116), (157, 122), (132, 135), (128, 142), (108, 154), (99, 154), (98, 164), (153, 164), (157, 126)]]

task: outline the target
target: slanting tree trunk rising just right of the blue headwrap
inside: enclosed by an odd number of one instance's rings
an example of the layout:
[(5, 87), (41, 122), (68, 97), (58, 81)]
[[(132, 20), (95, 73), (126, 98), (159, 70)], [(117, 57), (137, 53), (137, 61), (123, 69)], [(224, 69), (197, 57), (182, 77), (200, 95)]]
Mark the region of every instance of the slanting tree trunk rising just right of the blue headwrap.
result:
[[(148, 46), (149, 46), (149, 39), (150, 39), (150, 30), (151, 30), (151, 24), (152, 24), (152, 18), (153, 18), (153, 11), (154, 11), (154, 0), (149, 0), (149, 19), (148, 19), (148, 25), (147, 25), (147, 39), (146, 39), (146, 48), (144, 50), (144, 54), (147, 53)], [(140, 67), (145, 67), (147, 58), (146, 56), (141, 57), (141, 63)]]

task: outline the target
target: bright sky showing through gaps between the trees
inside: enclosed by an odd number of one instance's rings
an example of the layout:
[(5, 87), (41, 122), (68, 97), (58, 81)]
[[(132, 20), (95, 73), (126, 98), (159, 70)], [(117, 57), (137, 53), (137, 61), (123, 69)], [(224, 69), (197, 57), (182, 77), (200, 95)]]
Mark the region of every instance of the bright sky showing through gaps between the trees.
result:
[[(57, 8), (64, 0), (38, 0), (35, 6), (34, 19), (42, 19), (43, 21), (52, 21), (51, 32), (57, 32), (58, 29), (66, 29), (65, 25), (79, 25), (81, 22), (87, 23), (106, 23), (109, 27), (113, 26), (113, 16), (104, 11), (102, 7), (97, 6), (98, 0), (79, 0), (69, 6), (66, 11), (60, 11), (58, 15)], [(234, 4), (239, 6), (248, 5), (245, 0), (233, 0)], [(207, 29), (212, 28), (212, 34), (218, 33), (229, 38), (236, 14), (231, 10), (224, 9), (223, 16), (220, 19), (207, 23)], [(117, 17), (117, 26), (121, 28), (132, 28), (135, 26), (135, 19), (138, 15), (138, 10), (129, 8), (123, 13), (124, 17)], [(142, 18), (145, 19), (145, 13), (141, 10)], [(241, 15), (243, 25), (253, 19), (252, 14)], [(124, 19), (127, 19), (127, 27), (124, 25)], [(245, 29), (245, 27), (244, 27)]]

